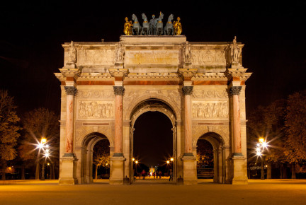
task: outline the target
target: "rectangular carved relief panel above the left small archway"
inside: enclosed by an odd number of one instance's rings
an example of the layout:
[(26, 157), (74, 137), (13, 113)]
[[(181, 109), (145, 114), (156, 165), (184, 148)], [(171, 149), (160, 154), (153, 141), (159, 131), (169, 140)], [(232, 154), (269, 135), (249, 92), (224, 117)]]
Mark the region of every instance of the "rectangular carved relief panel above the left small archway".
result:
[(114, 104), (111, 101), (79, 101), (79, 118), (101, 119), (114, 117)]

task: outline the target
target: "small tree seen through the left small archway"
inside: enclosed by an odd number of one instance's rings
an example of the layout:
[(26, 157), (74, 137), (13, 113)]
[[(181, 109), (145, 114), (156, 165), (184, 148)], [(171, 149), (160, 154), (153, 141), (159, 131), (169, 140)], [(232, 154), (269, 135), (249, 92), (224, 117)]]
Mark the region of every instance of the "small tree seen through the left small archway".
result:
[(110, 165), (110, 144), (108, 140), (98, 141), (94, 146), (94, 165), (96, 165), (95, 179), (98, 177), (98, 167), (108, 168)]

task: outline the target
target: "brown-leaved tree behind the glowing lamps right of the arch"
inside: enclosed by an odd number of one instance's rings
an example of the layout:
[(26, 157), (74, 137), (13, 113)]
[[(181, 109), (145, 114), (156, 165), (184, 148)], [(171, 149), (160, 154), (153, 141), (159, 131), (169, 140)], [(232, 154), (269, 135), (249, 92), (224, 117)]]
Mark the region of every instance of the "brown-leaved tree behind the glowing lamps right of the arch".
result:
[(249, 165), (256, 163), (254, 148), (259, 138), (264, 138), (268, 142), (268, 150), (264, 153), (264, 158), (268, 163), (267, 178), (271, 178), (272, 163), (285, 163), (285, 100), (276, 100), (270, 105), (259, 106), (249, 115), (247, 124), (247, 151)]

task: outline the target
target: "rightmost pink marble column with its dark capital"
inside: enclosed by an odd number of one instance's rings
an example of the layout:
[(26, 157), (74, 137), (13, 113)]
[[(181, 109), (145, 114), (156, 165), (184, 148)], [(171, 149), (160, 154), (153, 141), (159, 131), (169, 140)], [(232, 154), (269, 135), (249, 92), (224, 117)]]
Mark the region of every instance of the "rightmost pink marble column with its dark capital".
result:
[(240, 130), (240, 107), (239, 94), (242, 86), (232, 86), (230, 93), (232, 94), (232, 110), (233, 110), (233, 144), (234, 155), (242, 155), (241, 130)]

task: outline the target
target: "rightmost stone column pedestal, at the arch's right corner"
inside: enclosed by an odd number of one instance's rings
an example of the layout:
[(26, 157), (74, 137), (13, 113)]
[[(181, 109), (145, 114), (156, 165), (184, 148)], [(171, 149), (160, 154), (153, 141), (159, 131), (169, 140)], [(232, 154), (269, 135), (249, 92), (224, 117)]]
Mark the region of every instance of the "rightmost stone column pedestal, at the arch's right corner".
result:
[(246, 175), (246, 163), (244, 156), (240, 153), (234, 153), (232, 160), (234, 166), (232, 185), (247, 185), (248, 179)]

